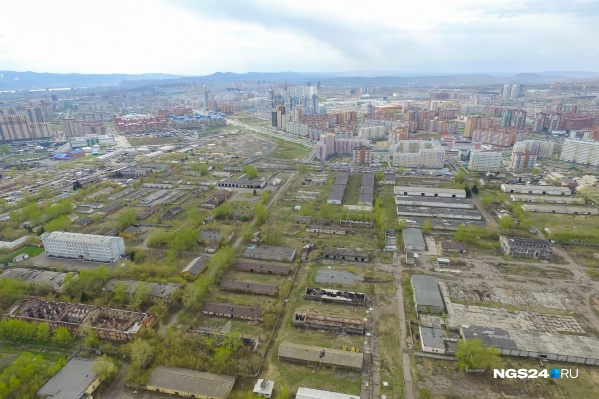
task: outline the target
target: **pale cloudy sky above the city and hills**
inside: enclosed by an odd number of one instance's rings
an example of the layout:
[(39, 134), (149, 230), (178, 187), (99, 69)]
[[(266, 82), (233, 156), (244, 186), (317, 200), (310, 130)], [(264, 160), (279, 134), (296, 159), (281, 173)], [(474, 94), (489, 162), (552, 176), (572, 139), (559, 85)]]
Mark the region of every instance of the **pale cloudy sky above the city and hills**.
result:
[(0, 70), (599, 71), (598, 0), (3, 0)]

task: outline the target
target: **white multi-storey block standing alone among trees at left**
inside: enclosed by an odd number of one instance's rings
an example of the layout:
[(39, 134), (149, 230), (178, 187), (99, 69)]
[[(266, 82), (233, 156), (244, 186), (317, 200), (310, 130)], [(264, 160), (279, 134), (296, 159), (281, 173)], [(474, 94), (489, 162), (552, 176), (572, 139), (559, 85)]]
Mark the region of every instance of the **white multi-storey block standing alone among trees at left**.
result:
[(46, 256), (115, 262), (125, 255), (125, 240), (122, 237), (54, 231), (40, 237)]

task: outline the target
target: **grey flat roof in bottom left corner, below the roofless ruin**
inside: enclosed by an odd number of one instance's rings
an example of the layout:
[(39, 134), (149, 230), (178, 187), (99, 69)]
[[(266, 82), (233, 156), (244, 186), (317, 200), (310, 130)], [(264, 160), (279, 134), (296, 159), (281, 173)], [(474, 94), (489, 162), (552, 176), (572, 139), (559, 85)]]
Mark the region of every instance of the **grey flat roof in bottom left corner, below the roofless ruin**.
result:
[(37, 395), (48, 399), (77, 399), (96, 378), (92, 360), (74, 358), (37, 391)]

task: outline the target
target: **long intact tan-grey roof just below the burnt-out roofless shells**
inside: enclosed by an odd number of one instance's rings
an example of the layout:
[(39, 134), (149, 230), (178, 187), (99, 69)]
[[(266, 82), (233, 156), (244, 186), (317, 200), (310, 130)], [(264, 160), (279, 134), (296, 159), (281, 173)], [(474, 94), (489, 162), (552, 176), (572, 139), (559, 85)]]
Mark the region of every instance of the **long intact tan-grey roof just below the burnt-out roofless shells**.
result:
[[(325, 352), (321, 357), (322, 352)], [(301, 360), (311, 363), (322, 363), (331, 366), (342, 366), (353, 369), (362, 369), (364, 354), (349, 352), (340, 349), (322, 348), (283, 342), (279, 346), (279, 357)]]

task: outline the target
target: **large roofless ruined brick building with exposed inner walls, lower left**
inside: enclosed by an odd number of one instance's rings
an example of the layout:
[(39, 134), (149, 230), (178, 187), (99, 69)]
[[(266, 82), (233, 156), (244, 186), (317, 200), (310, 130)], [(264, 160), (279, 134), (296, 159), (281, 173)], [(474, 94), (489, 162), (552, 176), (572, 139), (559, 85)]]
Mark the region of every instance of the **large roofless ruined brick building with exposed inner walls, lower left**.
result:
[(101, 339), (127, 341), (154, 324), (150, 313), (100, 308), (92, 305), (44, 301), (35, 298), (16, 302), (4, 315), (31, 323), (46, 323), (51, 329), (67, 328), (72, 334), (87, 335), (93, 329)]

